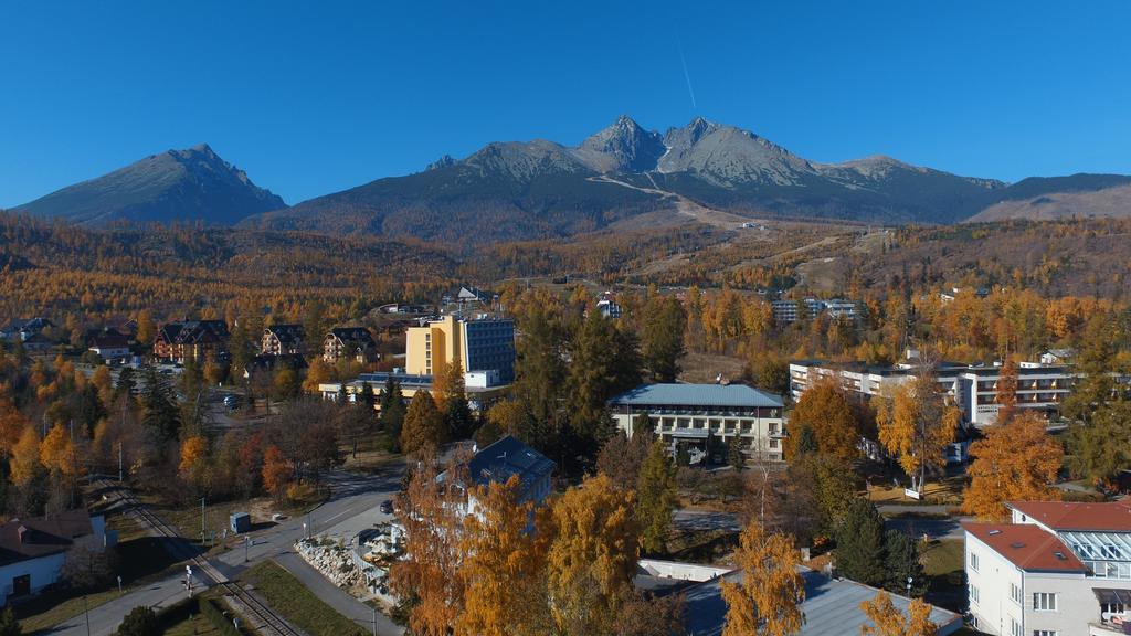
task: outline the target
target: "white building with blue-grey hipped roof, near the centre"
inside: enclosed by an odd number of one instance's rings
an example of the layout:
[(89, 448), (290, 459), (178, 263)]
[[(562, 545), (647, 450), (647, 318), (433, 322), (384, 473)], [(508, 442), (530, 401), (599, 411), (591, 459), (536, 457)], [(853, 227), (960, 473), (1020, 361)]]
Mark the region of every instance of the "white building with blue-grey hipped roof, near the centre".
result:
[(737, 442), (748, 457), (783, 459), (782, 398), (743, 385), (658, 384), (637, 387), (608, 402), (616, 427), (632, 437), (644, 416), (658, 439), (702, 452), (714, 438)]

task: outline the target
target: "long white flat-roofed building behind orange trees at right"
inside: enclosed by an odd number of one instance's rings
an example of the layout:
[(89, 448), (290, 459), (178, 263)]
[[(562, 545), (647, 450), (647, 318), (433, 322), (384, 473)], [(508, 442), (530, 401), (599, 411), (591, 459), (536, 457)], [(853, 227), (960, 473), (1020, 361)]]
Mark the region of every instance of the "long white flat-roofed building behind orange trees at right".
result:
[[(789, 392), (796, 401), (814, 381), (835, 377), (849, 393), (882, 395), (890, 385), (914, 378), (917, 369), (915, 364), (880, 367), (862, 362), (797, 360), (789, 363)], [(965, 421), (984, 427), (998, 420), (1000, 366), (944, 362), (936, 366), (933, 372), (939, 388), (961, 407)], [(1076, 379), (1077, 373), (1071, 367), (1022, 362), (1017, 370), (1017, 406), (1054, 414), (1072, 392)]]

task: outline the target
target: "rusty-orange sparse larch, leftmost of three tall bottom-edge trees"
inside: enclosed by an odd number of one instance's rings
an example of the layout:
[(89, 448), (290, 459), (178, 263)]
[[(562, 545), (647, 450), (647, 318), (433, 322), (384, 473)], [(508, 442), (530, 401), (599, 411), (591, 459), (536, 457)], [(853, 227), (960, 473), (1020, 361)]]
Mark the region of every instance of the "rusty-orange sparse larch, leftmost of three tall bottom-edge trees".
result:
[(459, 458), (444, 469), (440, 479), (433, 458), (421, 461), (396, 507), (406, 557), (389, 569), (389, 583), (395, 594), (412, 600), (408, 628), (417, 636), (448, 636), (464, 611), (467, 499), (455, 484), (467, 484), (469, 476)]

